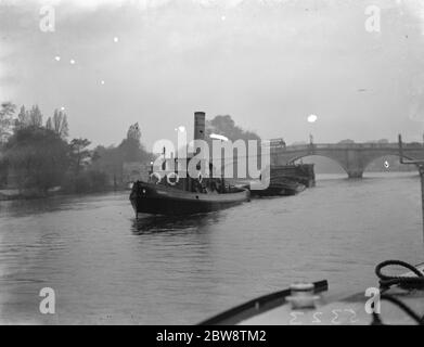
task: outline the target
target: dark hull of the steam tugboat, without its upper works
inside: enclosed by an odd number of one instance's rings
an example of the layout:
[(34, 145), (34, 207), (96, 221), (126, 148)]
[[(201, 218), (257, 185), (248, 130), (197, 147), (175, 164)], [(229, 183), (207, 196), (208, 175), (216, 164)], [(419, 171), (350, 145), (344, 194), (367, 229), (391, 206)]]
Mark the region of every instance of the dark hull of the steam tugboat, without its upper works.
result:
[(191, 193), (160, 184), (138, 181), (130, 194), (132, 207), (138, 214), (193, 215), (228, 208), (249, 200), (247, 190), (224, 194)]

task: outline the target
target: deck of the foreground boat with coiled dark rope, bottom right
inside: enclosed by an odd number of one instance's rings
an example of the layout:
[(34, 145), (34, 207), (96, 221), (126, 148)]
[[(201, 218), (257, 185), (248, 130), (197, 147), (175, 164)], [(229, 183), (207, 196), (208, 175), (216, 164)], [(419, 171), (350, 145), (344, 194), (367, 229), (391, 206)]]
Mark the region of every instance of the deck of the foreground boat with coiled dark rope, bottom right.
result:
[[(253, 299), (217, 314), (201, 324), (213, 325), (368, 325), (424, 324), (424, 264), (407, 267), (413, 271), (400, 275), (383, 275), (381, 269), (403, 261), (388, 260), (376, 268), (381, 287), (364, 288), (349, 296), (331, 296), (326, 281), (313, 283), (312, 306), (291, 305), (293, 291), (284, 290)], [(383, 283), (382, 283), (383, 280)], [(312, 284), (311, 284), (312, 285)], [(372, 290), (372, 291), (370, 291)], [(388, 303), (389, 301), (389, 303)], [(371, 305), (372, 304), (372, 305)], [(381, 313), (373, 307), (381, 305)], [(380, 309), (376, 309), (380, 311)]]

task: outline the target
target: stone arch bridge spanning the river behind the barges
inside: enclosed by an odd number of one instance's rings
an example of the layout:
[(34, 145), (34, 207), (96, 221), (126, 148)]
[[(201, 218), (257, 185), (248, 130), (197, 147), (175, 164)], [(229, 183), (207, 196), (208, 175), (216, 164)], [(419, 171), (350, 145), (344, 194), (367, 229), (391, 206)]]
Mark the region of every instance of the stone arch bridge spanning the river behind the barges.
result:
[[(309, 155), (320, 155), (337, 162), (349, 178), (362, 178), (367, 166), (386, 155), (399, 156), (398, 143), (310, 143), (300, 145), (279, 144), (271, 141), (271, 165), (292, 164)], [(424, 145), (417, 142), (403, 143), (403, 157), (424, 159)]]

